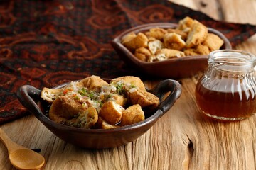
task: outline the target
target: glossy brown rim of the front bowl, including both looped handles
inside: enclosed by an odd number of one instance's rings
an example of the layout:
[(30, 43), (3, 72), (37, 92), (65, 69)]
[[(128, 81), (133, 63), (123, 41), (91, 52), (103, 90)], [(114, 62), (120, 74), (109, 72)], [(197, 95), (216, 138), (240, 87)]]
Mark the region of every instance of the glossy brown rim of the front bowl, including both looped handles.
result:
[[(173, 97), (174, 97), (173, 103), (171, 104), (171, 106), (169, 106), (169, 109), (170, 109), (174, 105), (176, 100), (181, 96), (181, 84), (179, 84), (178, 81), (171, 80), (171, 79), (166, 79), (164, 81), (168, 81), (169, 83), (171, 82), (173, 84), (172, 85), (173, 89), (171, 90), (171, 93), (169, 94), (169, 96), (173, 95)], [(160, 86), (161, 83), (163, 83), (164, 81), (160, 81), (160, 83), (157, 84), (156, 86)], [(166, 83), (168, 83), (168, 82), (166, 82)], [(68, 83), (70, 83), (70, 82), (68, 82)], [(58, 89), (61, 86), (65, 86), (68, 83), (60, 84), (58, 86), (53, 87), (53, 89)], [(156, 88), (156, 86), (154, 88)], [(149, 91), (151, 91), (151, 90), (152, 89), (150, 89)], [(43, 101), (43, 99), (41, 98), (41, 90), (36, 89), (36, 87), (34, 87), (34, 86), (23, 85), (18, 89), (17, 96), (18, 96), (18, 100), (23, 104), (23, 106), (28, 108), (28, 111), (33, 113), (33, 115), (35, 115), (36, 118), (38, 118), (38, 120), (40, 120), (41, 123), (43, 123), (44, 125), (46, 125), (46, 126), (50, 125), (51, 127), (54, 127), (56, 129), (70, 130), (70, 131), (79, 132), (79, 133), (91, 133), (91, 134), (95, 134), (95, 135), (99, 135), (99, 134), (103, 134), (103, 133), (105, 134), (105, 133), (110, 133), (110, 132), (111, 133), (114, 133), (114, 132), (119, 133), (119, 132), (123, 132), (126, 130), (138, 129), (145, 125), (150, 125), (151, 123), (154, 123), (157, 120), (159, 120), (159, 118), (161, 118), (161, 116), (164, 115), (169, 110), (168, 109), (167, 111), (164, 111), (163, 108), (158, 108), (154, 113), (152, 113), (151, 116), (149, 116), (149, 118), (146, 118), (145, 120), (142, 120), (138, 123), (134, 123), (131, 125), (125, 125), (125, 126), (122, 126), (119, 128), (84, 129), (84, 128), (76, 128), (76, 127), (72, 127), (72, 126), (68, 126), (68, 125), (63, 125), (60, 123), (55, 123), (53, 120), (48, 118), (48, 116), (43, 113), (42, 109), (38, 106), (39, 103), (36, 102), (34, 99), (31, 98), (32, 101), (29, 101), (29, 103), (26, 103), (28, 101), (28, 95), (27, 95), (28, 93), (31, 93), (31, 96), (33, 96), (34, 98), (37, 98), (38, 101)], [(161, 98), (160, 98), (160, 100), (161, 100)], [(165, 101), (166, 101), (166, 99), (164, 101), (161, 101), (161, 103), (163, 103)], [(31, 111), (31, 109), (29, 109), (31, 107), (31, 105), (33, 105), (32, 107), (34, 107), (33, 111)]]

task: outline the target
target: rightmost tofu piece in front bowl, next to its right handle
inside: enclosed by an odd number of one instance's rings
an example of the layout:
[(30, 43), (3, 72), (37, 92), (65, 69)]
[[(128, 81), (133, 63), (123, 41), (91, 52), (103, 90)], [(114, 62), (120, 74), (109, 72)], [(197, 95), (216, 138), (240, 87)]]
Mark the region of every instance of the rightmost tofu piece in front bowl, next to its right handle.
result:
[(154, 109), (159, 106), (159, 98), (154, 94), (151, 94), (147, 91), (136, 90), (136, 91), (129, 91), (127, 94), (129, 103), (139, 104), (142, 108), (150, 108)]

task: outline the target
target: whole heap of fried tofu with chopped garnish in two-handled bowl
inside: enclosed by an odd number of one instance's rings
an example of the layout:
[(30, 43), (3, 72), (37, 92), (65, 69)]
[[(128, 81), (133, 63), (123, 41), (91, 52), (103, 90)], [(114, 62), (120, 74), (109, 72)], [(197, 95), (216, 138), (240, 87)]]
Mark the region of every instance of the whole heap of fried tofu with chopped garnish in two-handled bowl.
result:
[(60, 89), (43, 88), (41, 98), (51, 106), (48, 116), (76, 128), (118, 128), (144, 120), (159, 98), (146, 91), (139, 77), (119, 77), (110, 84), (97, 76), (72, 81)]

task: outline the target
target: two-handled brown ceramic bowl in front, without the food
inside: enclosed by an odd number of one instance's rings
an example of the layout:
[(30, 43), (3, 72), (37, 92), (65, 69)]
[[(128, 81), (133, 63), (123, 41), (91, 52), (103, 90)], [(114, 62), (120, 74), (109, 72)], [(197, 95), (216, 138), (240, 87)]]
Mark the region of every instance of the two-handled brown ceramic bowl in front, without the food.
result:
[[(63, 84), (55, 88), (61, 88), (65, 85)], [(109, 130), (74, 128), (55, 123), (46, 116), (49, 104), (41, 98), (41, 90), (33, 86), (21, 86), (18, 89), (17, 96), (23, 106), (33, 113), (53, 134), (60, 137), (60, 139), (78, 147), (100, 149), (119, 147), (143, 135), (174, 105), (181, 95), (181, 85), (175, 80), (167, 79), (161, 81), (154, 89), (149, 90), (149, 92), (158, 96), (161, 101), (159, 108), (154, 113), (149, 113), (149, 116), (139, 123)]]

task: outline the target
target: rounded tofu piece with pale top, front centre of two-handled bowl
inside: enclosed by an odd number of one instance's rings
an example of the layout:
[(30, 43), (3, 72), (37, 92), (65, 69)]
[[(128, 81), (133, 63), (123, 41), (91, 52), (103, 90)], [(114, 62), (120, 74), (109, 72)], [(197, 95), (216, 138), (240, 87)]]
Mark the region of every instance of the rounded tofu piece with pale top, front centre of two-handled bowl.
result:
[(122, 118), (122, 111), (124, 108), (114, 101), (107, 101), (103, 103), (102, 108), (100, 108), (100, 117), (110, 123), (111, 125), (115, 125), (119, 123)]

